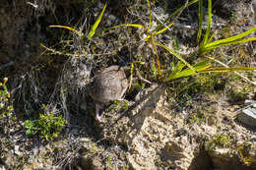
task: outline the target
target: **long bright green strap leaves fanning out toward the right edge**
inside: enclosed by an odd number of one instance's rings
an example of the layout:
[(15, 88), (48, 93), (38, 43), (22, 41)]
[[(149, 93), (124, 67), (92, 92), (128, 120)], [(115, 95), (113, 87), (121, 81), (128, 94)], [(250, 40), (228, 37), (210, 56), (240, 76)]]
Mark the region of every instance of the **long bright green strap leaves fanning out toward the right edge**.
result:
[[(199, 42), (201, 39), (202, 35), (202, 22), (203, 22), (203, 0), (199, 0), (199, 30), (197, 34), (197, 41)], [(250, 37), (250, 38), (244, 38), (246, 35), (250, 34), (253, 31), (256, 31), (255, 28), (251, 28), (243, 33), (230, 36), (228, 38), (216, 40), (214, 42), (211, 42), (213, 37), (215, 36), (215, 33), (210, 35), (211, 32), (211, 25), (212, 25), (212, 0), (208, 0), (208, 25), (207, 25), (207, 30), (206, 33), (203, 37), (203, 40), (201, 41), (199, 45), (199, 54), (206, 53), (210, 50), (213, 50), (215, 48), (224, 46), (224, 45), (230, 45), (230, 44), (236, 44), (236, 43), (243, 43), (247, 41), (253, 41), (256, 40), (256, 37)], [(167, 48), (165, 45), (160, 44), (160, 42), (156, 42), (158, 45), (161, 47), (165, 48), (169, 53), (174, 55), (176, 58), (178, 58), (181, 62), (184, 63), (184, 65), (177, 63), (175, 72), (171, 72), (168, 77), (164, 80), (164, 82), (168, 82), (174, 79), (178, 78), (183, 78), (187, 76), (193, 76), (198, 73), (212, 73), (212, 72), (219, 72), (219, 73), (224, 73), (224, 72), (237, 72), (237, 71), (251, 71), (255, 70), (255, 68), (246, 68), (246, 67), (228, 67), (224, 65), (224, 63), (220, 62), (219, 60), (213, 58), (213, 57), (208, 57), (211, 61), (217, 62), (221, 64), (224, 67), (219, 67), (219, 68), (214, 68), (210, 64), (210, 60), (203, 60), (199, 61), (195, 65), (191, 66), (188, 62), (186, 62), (179, 54), (174, 52), (173, 50)], [(185, 68), (187, 66), (188, 68)], [(236, 73), (237, 74), (237, 73)]]

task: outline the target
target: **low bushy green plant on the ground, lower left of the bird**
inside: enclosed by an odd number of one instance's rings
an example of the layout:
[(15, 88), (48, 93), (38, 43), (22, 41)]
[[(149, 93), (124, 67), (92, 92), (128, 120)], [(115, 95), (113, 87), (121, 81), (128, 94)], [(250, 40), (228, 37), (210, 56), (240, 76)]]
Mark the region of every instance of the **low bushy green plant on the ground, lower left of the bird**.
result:
[(24, 127), (27, 129), (26, 135), (39, 135), (40, 138), (46, 141), (52, 141), (57, 138), (65, 126), (66, 120), (62, 116), (56, 117), (52, 112), (39, 114), (36, 120), (27, 120), (24, 122)]

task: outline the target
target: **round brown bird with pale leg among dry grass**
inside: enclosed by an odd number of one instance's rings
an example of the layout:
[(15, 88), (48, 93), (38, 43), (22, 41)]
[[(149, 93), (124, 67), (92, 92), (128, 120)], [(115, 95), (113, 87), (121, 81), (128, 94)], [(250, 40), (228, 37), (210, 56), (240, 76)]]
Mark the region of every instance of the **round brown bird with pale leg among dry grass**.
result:
[[(99, 110), (104, 103), (112, 100), (123, 100), (124, 94), (129, 86), (129, 67), (110, 66), (96, 75), (89, 86), (89, 94), (96, 102), (96, 120), (101, 122), (102, 115)], [(136, 76), (146, 83), (151, 82), (143, 79), (138, 71)]]

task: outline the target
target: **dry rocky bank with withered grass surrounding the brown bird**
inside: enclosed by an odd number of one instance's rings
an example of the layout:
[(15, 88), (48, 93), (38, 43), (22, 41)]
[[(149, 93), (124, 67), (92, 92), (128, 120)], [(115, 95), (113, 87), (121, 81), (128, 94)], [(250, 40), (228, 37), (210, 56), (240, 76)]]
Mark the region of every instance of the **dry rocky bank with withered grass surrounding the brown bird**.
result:
[[(184, 3), (152, 1), (153, 28)], [(141, 29), (115, 29), (85, 45), (67, 30), (48, 28), (78, 24), (87, 32), (102, 7), (100, 1), (0, 2), (0, 78), (9, 78), (14, 106), (11, 114), (0, 117), (0, 170), (256, 169), (255, 127), (237, 119), (245, 100), (255, 100), (255, 85), (230, 73), (163, 84), (153, 67), (153, 47), (141, 41), (145, 36)], [(255, 27), (253, 0), (216, 0), (213, 11), (216, 39)], [(188, 56), (196, 48), (196, 15), (196, 6), (184, 10), (173, 28), (156, 38)], [(100, 27), (147, 26), (148, 18), (145, 2), (113, 0)], [(167, 70), (173, 60), (162, 49), (159, 53), (162, 70)], [(213, 53), (232, 66), (256, 66), (255, 42)], [(103, 67), (132, 61), (145, 63), (135, 66), (153, 84), (136, 83), (127, 92), (127, 101), (107, 105), (103, 123), (96, 122), (87, 91), (91, 76)], [(255, 71), (242, 75), (256, 81)], [(69, 118), (52, 141), (28, 136), (25, 128), (25, 121), (44, 108)]]

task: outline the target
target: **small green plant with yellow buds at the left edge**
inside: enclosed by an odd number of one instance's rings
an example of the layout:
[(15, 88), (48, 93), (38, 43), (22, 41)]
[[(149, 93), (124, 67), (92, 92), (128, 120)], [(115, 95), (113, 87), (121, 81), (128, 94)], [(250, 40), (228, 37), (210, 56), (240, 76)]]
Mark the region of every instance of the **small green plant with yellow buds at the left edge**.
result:
[(0, 117), (10, 115), (14, 110), (11, 94), (6, 86), (7, 82), (8, 78), (4, 78), (3, 83), (0, 82)]

